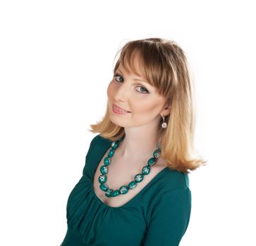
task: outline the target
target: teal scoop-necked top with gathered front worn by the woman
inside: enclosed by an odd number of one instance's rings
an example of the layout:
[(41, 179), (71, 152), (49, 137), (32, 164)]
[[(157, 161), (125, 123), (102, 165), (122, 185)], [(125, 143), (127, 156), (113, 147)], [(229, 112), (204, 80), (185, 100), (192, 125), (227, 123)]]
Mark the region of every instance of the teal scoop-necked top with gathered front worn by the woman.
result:
[(100, 134), (90, 143), (83, 176), (68, 197), (61, 246), (179, 245), (190, 220), (188, 174), (165, 167), (126, 204), (109, 207), (93, 190), (95, 171), (109, 148), (111, 141)]

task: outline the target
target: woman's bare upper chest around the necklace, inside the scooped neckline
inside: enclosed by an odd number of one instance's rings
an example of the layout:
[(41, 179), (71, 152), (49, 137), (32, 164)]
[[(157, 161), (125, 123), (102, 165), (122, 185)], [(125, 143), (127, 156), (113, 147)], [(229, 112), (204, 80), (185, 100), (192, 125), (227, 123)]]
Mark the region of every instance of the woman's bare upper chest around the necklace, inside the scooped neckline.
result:
[[(105, 157), (105, 155), (104, 155)], [(137, 183), (137, 186), (133, 190), (128, 190), (128, 193), (124, 195), (118, 195), (114, 198), (107, 198), (105, 192), (99, 188), (98, 178), (102, 174), (100, 172), (100, 167), (104, 164), (104, 157), (99, 162), (97, 169), (95, 171), (95, 175), (93, 177), (93, 188), (95, 191), (95, 195), (102, 200), (102, 202), (110, 207), (120, 207), (125, 205), (127, 202), (132, 200), (135, 195), (140, 193), (140, 191), (147, 186), (155, 176), (166, 167), (164, 164), (164, 160), (161, 157), (158, 158), (156, 164), (151, 167), (150, 174), (144, 176), (143, 180)], [(107, 172), (107, 181), (106, 184), (112, 190), (118, 190), (123, 185), (128, 185), (130, 181), (134, 180), (136, 174), (141, 173), (142, 167), (147, 164), (147, 159), (145, 162), (140, 160), (139, 162), (130, 160), (122, 160), (121, 158), (111, 158), (111, 164), (108, 166), (109, 171)]]

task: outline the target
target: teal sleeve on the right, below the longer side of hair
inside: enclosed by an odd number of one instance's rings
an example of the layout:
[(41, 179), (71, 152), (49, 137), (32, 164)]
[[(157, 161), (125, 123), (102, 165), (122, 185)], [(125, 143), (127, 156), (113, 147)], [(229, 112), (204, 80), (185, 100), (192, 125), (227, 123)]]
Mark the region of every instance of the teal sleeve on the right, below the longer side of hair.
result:
[(190, 221), (190, 188), (166, 191), (156, 202), (144, 246), (178, 246)]

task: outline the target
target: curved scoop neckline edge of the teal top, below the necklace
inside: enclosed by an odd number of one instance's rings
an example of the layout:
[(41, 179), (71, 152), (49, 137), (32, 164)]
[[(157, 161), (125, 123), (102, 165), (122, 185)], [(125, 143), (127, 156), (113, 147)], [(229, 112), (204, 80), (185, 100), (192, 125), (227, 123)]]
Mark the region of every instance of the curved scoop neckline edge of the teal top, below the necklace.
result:
[(143, 191), (144, 191), (148, 186), (150, 186), (150, 184), (151, 184), (155, 179), (157, 179), (162, 173), (164, 173), (164, 170), (166, 170), (167, 168), (169, 168), (169, 167), (167, 166), (167, 167), (164, 167), (163, 169), (161, 169), (161, 171), (159, 171), (159, 173), (158, 173), (156, 176), (154, 176), (154, 178), (153, 178), (149, 183), (147, 183), (147, 185), (144, 186), (144, 187), (142, 188), (142, 190), (140, 190), (139, 193), (137, 193), (133, 198), (131, 198), (130, 200), (128, 200), (128, 202), (126, 202), (125, 204), (123, 204), (123, 205), (121, 205), (121, 206), (119, 206), (119, 207), (111, 207), (111, 206), (109, 206), (109, 205), (106, 205), (106, 203), (102, 202), (102, 200), (100, 200), (100, 199), (98, 198), (98, 196), (96, 195), (95, 190), (94, 190), (94, 188), (93, 188), (93, 181), (94, 181), (94, 177), (95, 177), (95, 174), (96, 174), (96, 171), (97, 171), (97, 167), (99, 166), (99, 163), (101, 162), (102, 157), (104, 157), (104, 155), (106, 155), (106, 153), (107, 153), (109, 150), (110, 150), (110, 147), (109, 147), (109, 145), (108, 145), (108, 148), (106, 149), (106, 151), (104, 151), (104, 154), (99, 158), (99, 161), (97, 162), (97, 165), (95, 165), (96, 167), (93, 168), (93, 170), (92, 170), (92, 178), (90, 179), (90, 181), (91, 181), (90, 188), (91, 188), (91, 191), (92, 191), (92, 195), (94, 195), (94, 197), (96, 198), (96, 200), (97, 200), (101, 205), (103, 205), (104, 207), (107, 207), (107, 208), (109, 208), (109, 209), (121, 209), (121, 208), (123, 208), (123, 207), (126, 207), (126, 206), (130, 205), (130, 203), (133, 202), (133, 200), (135, 200), (135, 198), (137, 198), (139, 195), (141, 195), (141, 194), (143, 193)]

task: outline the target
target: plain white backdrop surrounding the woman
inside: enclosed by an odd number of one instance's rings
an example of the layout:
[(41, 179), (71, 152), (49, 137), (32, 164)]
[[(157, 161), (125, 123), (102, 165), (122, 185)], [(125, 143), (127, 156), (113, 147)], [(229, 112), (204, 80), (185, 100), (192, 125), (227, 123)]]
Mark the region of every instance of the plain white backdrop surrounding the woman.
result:
[(60, 245), (66, 202), (103, 117), (114, 56), (163, 37), (195, 77), (185, 245), (256, 245), (253, 1), (1, 1), (0, 245)]

